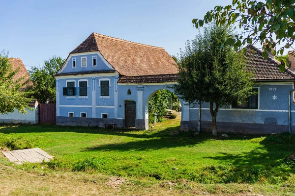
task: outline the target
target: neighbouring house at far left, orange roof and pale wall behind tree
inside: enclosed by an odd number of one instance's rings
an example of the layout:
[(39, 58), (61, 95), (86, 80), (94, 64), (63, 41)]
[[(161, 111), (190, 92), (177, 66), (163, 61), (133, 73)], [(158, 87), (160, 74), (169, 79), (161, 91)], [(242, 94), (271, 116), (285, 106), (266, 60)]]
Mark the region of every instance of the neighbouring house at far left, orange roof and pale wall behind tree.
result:
[[(23, 82), (29, 79), (29, 73), (20, 58), (9, 58), (13, 70), (19, 69), (18, 73), (14, 76), (14, 80), (24, 77)], [(21, 90), (26, 90), (26, 85), (21, 87)], [(15, 109), (14, 112), (8, 114), (0, 114), (0, 123), (38, 123), (38, 101), (36, 99), (32, 100), (29, 104), (33, 110), (26, 109), (28, 114), (21, 114)]]

